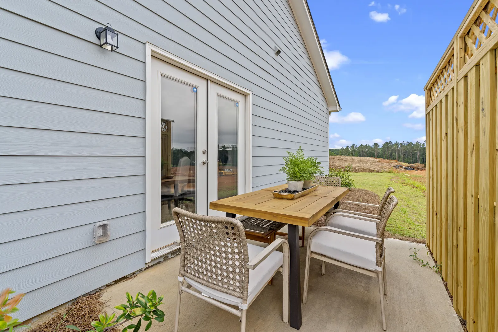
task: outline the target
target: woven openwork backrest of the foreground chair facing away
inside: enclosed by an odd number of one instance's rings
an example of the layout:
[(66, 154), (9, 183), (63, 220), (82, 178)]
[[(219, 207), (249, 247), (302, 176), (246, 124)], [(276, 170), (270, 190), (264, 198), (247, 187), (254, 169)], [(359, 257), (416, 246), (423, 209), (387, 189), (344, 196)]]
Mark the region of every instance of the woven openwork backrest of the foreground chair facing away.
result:
[(173, 209), (180, 234), (179, 276), (247, 301), (249, 252), (242, 222)]

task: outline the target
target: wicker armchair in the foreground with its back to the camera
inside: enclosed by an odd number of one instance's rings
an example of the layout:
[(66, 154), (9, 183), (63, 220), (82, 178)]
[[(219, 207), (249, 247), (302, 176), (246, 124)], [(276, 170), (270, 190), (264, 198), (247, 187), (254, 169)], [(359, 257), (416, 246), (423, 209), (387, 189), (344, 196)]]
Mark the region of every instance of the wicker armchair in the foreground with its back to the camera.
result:
[[(241, 319), (241, 332), (245, 332), (247, 309), (277, 271), (283, 273), (282, 321), (288, 323), (286, 240), (276, 239), (266, 248), (249, 244), (244, 226), (234, 218), (201, 216), (174, 208), (173, 219), (181, 246), (175, 332), (178, 332), (183, 292), (236, 315)], [(275, 251), (280, 246), (283, 253)], [(228, 305), (238, 306), (239, 310)]]

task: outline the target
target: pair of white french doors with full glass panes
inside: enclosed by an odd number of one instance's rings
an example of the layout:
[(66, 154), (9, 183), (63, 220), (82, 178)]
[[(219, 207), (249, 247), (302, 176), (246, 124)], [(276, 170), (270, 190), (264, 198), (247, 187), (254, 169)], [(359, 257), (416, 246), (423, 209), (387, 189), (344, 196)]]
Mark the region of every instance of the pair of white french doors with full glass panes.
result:
[[(152, 253), (177, 240), (172, 210), (224, 215), (209, 202), (245, 193), (245, 95), (151, 59)], [(152, 255), (154, 258), (154, 255)]]

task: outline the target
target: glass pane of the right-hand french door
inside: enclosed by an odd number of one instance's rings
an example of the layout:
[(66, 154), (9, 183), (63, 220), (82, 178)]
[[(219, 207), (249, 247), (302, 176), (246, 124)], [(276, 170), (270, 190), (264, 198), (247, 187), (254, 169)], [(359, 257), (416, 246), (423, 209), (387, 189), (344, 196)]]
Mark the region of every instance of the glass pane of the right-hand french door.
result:
[(218, 96), (218, 199), (236, 196), (239, 161), (239, 103)]

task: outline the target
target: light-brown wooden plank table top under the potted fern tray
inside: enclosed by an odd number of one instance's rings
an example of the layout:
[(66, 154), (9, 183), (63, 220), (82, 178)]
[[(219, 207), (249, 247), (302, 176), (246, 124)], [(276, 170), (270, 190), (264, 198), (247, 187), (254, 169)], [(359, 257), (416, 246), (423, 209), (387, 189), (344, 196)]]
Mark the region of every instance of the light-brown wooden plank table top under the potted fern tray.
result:
[(284, 184), (224, 198), (211, 202), (209, 208), (237, 215), (310, 226), (349, 192), (349, 188), (319, 186), (315, 191), (295, 200), (273, 197), (271, 191), (286, 187)]

